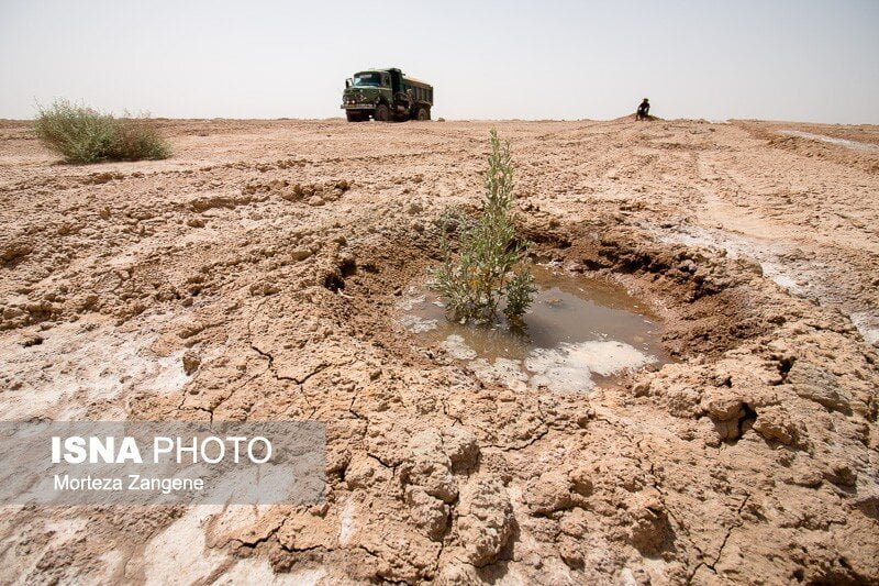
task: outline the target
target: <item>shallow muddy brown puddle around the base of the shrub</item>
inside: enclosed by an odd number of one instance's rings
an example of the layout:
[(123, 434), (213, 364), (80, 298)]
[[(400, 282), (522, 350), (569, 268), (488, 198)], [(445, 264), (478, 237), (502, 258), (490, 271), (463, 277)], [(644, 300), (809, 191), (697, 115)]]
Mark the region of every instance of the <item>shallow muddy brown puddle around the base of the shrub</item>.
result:
[(409, 288), (398, 320), (424, 345), (443, 347), (479, 378), (511, 388), (587, 391), (669, 361), (658, 318), (624, 288), (541, 266), (535, 278), (539, 290), (521, 331), (502, 319), (492, 327), (452, 322), (426, 286)]

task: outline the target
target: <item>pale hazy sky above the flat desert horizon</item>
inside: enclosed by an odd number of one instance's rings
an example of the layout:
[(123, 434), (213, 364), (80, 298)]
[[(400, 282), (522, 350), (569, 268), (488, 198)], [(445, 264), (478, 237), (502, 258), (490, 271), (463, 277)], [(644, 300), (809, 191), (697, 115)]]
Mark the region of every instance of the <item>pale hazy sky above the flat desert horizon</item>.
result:
[(337, 117), (399, 66), (434, 118), (879, 123), (879, 0), (0, 0), (0, 118)]

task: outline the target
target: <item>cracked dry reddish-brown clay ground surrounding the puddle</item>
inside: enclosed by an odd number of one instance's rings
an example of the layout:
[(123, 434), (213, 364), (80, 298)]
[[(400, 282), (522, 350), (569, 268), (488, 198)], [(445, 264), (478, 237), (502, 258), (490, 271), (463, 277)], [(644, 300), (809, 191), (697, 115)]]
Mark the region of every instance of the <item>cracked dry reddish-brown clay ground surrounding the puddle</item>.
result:
[(0, 125), (0, 413), (322, 421), (326, 499), (8, 506), (2, 582), (879, 581), (876, 128), (494, 124), (536, 259), (665, 319), (676, 362), (583, 395), (397, 324), (489, 123), (163, 125), (96, 166)]

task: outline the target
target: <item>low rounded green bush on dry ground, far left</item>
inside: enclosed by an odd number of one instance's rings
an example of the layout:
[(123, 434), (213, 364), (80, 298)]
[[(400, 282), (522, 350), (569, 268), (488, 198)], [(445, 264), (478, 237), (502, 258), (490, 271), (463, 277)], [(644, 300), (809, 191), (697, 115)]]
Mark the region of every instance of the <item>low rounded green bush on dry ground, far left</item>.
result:
[(113, 118), (67, 100), (41, 107), (35, 130), (44, 144), (71, 163), (170, 156), (170, 146), (148, 118)]

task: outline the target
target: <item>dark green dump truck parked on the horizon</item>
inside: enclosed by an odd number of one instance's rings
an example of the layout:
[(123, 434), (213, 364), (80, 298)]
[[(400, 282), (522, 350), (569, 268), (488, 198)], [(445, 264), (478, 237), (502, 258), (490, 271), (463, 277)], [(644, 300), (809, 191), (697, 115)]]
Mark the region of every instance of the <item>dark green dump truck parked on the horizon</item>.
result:
[(348, 122), (430, 120), (433, 86), (400, 69), (367, 69), (345, 80), (342, 109)]

